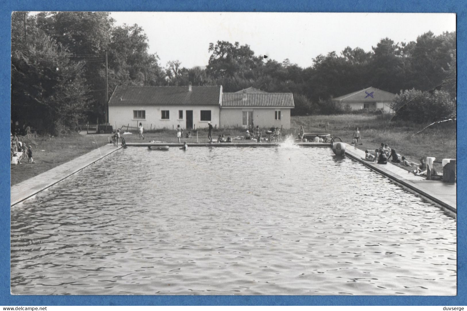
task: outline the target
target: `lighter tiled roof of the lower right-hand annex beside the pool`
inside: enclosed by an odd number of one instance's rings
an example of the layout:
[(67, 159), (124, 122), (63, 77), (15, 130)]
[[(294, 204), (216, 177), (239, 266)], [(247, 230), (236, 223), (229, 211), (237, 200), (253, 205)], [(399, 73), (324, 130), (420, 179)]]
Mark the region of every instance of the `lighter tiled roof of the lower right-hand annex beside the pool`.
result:
[(221, 107), (293, 108), (294, 106), (292, 93), (222, 93)]

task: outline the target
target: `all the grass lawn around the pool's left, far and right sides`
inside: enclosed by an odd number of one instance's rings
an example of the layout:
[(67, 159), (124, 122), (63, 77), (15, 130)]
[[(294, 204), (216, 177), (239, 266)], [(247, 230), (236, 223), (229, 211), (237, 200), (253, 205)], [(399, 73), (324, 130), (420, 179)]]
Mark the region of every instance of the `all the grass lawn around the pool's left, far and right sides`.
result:
[[(328, 122), (327, 130), (325, 123)], [(454, 124), (443, 124), (425, 130), (421, 134), (413, 136), (426, 125), (418, 125), (410, 122), (390, 122), (388, 116), (362, 115), (362, 114), (342, 114), (342, 115), (314, 115), (291, 117), (291, 128), (283, 130), (281, 137), (293, 135), (297, 137), (298, 130), (304, 125), (305, 132), (329, 133), (333, 137), (340, 137), (344, 142), (352, 141), (352, 134), (355, 127), (360, 128), (361, 143), (358, 148), (375, 150), (381, 142), (389, 144), (390, 148), (396, 149), (397, 153), (404, 155), (410, 162), (419, 163), (420, 158), (434, 156), (437, 161), (444, 158), (456, 158), (456, 128)], [(262, 129), (264, 135), (265, 128)], [(124, 132), (124, 130), (122, 130)], [(207, 142), (207, 130), (200, 129), (191, 131), (192, 137), (182, 138), (188, 144), (197, 142)], [(137, 131), (133, 134), (123, 135), (127, 142), (163, 141), (178, 142), (175, 130), (153, 130), (144, 133), (144, 140), (139, 140)], [(186, 134), (187, 131), (184, 131)], [(217, 141), (219, 134), (224, 134), (225, 138), (244, 136), (244, 129), (241, 128), (218, 128), (212, 133), (213, 141)], [(33, 158), (35, 164), (28, 164), (23, 160), (23, 164), (11, 167), (11, 184), (18, 184), (23, 180), (34, 177), (42, 172), (50, 170), (62, 163), (83, 155), (92, 149), (98, 148), (108, 143), (109, 134), (70, 134), (64, 137), (52, 137), (48, 135), (35, 139), (37, 148), (33, 147)], [(20, 141), (26, 141), (19, 137)], [(239, 140), (233, 140), (239, 141)], [(241, 142), (255, 142), (242, 140)], [(442, 172), (440, 164), (435, 164), (436, 169)], [(406, 168), (410, 170), (411, 168)], [(412, 168), (413, 170), (413, 168)]]

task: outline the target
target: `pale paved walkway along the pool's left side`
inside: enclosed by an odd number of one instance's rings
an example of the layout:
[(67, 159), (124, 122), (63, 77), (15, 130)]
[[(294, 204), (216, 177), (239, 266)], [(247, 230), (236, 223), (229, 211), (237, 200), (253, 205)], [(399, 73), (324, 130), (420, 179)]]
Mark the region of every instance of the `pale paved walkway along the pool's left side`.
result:
[(111, 144), (102, 146), (86, 153), (85, 155), (78, 156), (67, 163), (43, 172), (42, 174), (29, 178), (19, 184), (15, 184), (11, 187), (11, 206), (32, 197), (37, 192), (57, 184), (66, 177), (83, 170), (85, 167), (95, 163), (120, 148), (121, 147), (117, 148)]

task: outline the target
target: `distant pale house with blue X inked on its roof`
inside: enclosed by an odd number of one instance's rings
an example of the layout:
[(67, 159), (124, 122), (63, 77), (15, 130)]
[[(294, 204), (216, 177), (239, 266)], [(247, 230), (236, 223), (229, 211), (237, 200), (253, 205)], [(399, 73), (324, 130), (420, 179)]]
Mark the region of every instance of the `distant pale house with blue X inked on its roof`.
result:
[(342, 107), (349, 106), (352, 110), (381, 109), (384, 112), (392, 112), (391, 104), (395, 97), (396, 94), (370, 86), (361, 91), (333, 98), (333, 101), (340, 103)]

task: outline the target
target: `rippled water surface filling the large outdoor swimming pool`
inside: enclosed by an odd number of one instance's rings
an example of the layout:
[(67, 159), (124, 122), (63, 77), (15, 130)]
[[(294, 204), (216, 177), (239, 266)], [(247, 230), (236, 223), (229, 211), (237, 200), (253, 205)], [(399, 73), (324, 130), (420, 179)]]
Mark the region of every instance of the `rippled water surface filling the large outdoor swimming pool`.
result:
[(11, 290), (455, 295), (456, 221), (328, 148), (127, 148), (11, 210)]

